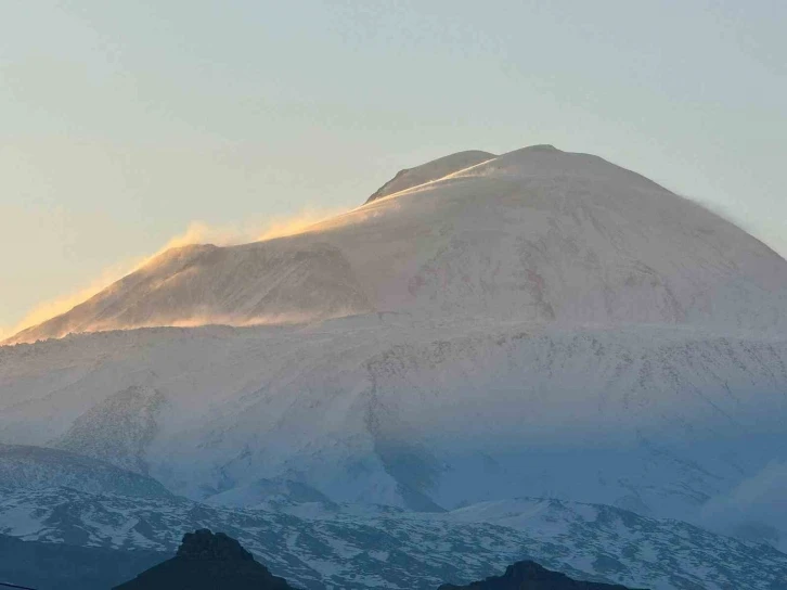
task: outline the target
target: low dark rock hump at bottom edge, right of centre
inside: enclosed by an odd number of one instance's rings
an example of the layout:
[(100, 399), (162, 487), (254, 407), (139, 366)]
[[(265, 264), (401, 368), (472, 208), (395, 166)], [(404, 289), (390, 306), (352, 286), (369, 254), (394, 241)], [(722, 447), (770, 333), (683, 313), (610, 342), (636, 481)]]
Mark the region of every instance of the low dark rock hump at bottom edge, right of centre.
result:
[[(536, 562), (517, 562), (502, 576), (474, 581), (468, 586), (442, 585), (439, 590), (630, 590), (624, 586), (573, 580)], [(634, 589), (631, 589), (634, 590)]]

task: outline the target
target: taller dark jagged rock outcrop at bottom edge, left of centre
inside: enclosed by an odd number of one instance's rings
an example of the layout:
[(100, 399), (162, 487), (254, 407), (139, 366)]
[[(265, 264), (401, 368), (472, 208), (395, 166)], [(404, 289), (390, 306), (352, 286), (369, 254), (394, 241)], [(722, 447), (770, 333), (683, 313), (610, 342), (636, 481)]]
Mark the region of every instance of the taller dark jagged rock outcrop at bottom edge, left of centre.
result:
[(115, 590), (287, 590), (284, 578), (273, 576), (241, 543), (208, 529), (183, 535), (171, 560), (143, 572)]

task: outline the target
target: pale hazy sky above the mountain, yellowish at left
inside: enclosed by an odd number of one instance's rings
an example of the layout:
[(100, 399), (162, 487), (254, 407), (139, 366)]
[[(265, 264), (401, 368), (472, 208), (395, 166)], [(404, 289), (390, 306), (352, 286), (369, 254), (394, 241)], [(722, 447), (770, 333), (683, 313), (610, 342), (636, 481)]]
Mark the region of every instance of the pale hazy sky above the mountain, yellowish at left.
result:
[(595, 153), (787, 255), (785, 30), (783, 0), (2, 0), (0, 331), (192, 221), (468, 149)]

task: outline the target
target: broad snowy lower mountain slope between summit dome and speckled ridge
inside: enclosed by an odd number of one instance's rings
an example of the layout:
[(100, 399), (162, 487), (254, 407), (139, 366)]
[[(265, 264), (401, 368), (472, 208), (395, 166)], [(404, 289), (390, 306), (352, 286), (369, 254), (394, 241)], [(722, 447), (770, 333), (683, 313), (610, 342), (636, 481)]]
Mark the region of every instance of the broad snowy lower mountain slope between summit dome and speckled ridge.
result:
[[(415, 510), (528, 495), (700, 523), (787, 448), (784, 337), (400, 316), (3, 347), (0, 440), (90, 433), (80, 452), (128, 466), (104, 409), (140, 384), (166, 402), (134, 464), (233, 505), (267, 479)], [(756, 521), (785, 539), (778, 514)]]

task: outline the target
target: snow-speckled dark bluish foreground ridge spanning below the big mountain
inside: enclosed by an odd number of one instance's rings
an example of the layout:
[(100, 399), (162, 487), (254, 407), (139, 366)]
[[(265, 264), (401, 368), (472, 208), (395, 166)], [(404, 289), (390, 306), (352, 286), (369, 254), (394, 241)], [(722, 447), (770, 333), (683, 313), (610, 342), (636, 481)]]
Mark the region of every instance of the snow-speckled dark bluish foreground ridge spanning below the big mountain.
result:
[(779, 590), (787, 555), (676, 521), (524, 499), (446, 514), (370, 506), (228, 510), (185, 500), (2, 490), (0, 533), (27, 540), (173, 552), (186, 530), (237, 538), (306, 588), (431, 589), (532, 559), (576, 578), (654, 590)]

